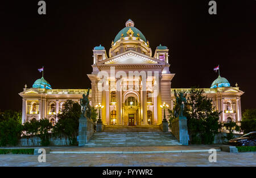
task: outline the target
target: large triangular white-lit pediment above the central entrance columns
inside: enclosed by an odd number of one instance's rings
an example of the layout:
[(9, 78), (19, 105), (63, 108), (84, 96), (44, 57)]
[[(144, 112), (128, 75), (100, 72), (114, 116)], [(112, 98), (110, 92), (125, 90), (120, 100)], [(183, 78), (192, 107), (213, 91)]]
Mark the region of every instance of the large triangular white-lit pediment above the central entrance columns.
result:
[(164, 61), (155, 59), (147, 55), (143, 55), (136, 51), (126, 51), (117, 56), (100, 61), (97, 65), (112, 65), (112, 64), (165, 64)]

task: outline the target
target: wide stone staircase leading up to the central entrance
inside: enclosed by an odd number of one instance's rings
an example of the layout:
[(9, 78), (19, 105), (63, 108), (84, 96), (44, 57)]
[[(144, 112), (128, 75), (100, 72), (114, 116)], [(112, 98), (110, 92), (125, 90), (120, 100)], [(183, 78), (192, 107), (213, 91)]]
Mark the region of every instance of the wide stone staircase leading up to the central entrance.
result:
[(159, 127), (113, 127), (94, 133), (85, 147), (176, 146), (181, 145), (171, 133)]

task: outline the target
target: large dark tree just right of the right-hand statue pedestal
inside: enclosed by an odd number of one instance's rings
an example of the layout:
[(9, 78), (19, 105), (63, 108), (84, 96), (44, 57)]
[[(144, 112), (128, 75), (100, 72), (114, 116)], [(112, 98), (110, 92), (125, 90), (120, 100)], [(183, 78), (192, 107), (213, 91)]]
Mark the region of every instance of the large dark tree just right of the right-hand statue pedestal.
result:
[(214, 110), (212, 99), (205, 96), (203, 90), (192, 87), (184, 111), (191, 143), (213, 143), (221, 127), (218, 122), (220, 114)]

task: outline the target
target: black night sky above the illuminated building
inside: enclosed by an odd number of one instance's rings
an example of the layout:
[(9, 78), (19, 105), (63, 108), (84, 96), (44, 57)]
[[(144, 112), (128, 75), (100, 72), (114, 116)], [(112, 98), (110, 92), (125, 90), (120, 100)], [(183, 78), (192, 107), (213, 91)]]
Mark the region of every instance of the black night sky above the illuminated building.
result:
[(92, 49), (108, 53), (115, 35), (132, 19), (152, 52), (170, 51), (172, 88), (209, 88), (220, 64), (221, 76), (245, 92), (242, 110), (256, 107), (256, 1), (38, 1), (0, 3), (0, 109), (22, 109), (18, 95), (42, 76), (53, 89), (90, 87)]

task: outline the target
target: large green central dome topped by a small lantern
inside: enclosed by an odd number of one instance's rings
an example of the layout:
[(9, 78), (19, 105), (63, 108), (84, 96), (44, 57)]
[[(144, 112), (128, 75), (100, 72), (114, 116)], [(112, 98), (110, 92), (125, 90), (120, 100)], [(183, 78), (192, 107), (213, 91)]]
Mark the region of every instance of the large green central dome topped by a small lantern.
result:
[[(129, 36), (128, 31), (132, 30), (134, 32), (133, 36), (135, 37), (140, 37), (144, 42), (147, 42), (145, 36), (142, 34), (141, 31), (138, 30), (138, 28), (134, 27), (134, 22), (129, 19), (126, 23), (125, 23), (125, 28), (123, 28), (121, 31), (118, 32), (117, 36), (115, 36), (114, 39), (114, 43), (117, 42), (119, 39), (121, 39), (121, 37), (126, 37)], [(123, 36), (122, 36), (123, 34)]]

